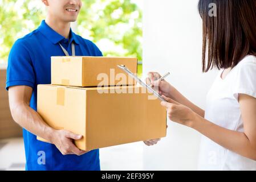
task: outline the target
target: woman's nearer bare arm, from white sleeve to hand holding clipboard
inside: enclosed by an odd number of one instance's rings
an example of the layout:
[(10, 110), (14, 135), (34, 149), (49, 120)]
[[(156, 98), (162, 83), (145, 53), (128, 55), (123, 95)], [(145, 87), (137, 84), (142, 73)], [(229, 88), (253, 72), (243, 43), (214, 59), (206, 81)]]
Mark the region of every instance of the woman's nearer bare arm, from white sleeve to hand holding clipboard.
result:
[(243, 133), (215, 125), (188, 107), (170, 98), (166, 98), (166, 100), (168, 102), (161, 102), (161, 104), (166, 107), (170, 120), (192, 127), (222, 147), (256, 160), (256, 98), (239, 94)]

